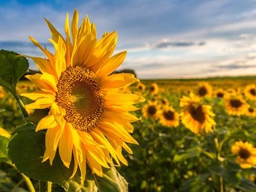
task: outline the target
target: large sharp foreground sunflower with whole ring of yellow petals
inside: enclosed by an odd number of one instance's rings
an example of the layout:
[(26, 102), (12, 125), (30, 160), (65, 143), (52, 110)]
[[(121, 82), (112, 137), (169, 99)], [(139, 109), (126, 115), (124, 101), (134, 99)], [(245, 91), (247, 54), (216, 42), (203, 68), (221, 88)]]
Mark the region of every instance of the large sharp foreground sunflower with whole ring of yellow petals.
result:
[[(46, 19), (45, 19), (46, 20)], [(138, 82), (132, 74), (112, 74), (124, 61), (126, 52), (114, 56), (116, 32), (104, 33), (97, 40), (96, 29), (88, 17), (78, 28), (78, 12), (74, 11), (71, 33), (68, 14), (65, 34), (60, 33), (46, 20), (52, 35), (49, 40), (56, 49), (47, 51), (34, 38), (29, 37), (47, 59), (29, 57), (35, 61), (42, 74), (26, 76), (39, 90), (22, 96), (35, 100), (26, 107), (49, 108), (49, 115), (40, 120), (36, 131), (47, 129), (43, 162), (54, 160), (57, 148), (63, 164), (70, 166), (74, 157), (74, 170), (79, 167), (81, 182), (86, 175), (86, 164), (93, 173), (102, 177), (102, 166), (127, 165), (122, 147), (132, 153), (126, 143), (137, 143), (129, 134), (132, 122), (139, 120), (129, 111), (134, 103), (145, 99), (139, 95), (124, 94), (123, 87)], [(112, 75), (109, 75), (112, 74)]]

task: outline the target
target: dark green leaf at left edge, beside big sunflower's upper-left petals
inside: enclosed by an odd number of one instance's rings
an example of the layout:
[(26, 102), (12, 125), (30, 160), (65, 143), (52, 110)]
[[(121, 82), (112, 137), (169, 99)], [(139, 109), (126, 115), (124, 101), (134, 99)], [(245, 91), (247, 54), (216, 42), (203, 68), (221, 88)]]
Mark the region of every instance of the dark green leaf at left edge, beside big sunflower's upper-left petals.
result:
[(28, 67), (28, 60), (17, 52), (0, 50), (0, 85), (15, 95), (15, 86)]

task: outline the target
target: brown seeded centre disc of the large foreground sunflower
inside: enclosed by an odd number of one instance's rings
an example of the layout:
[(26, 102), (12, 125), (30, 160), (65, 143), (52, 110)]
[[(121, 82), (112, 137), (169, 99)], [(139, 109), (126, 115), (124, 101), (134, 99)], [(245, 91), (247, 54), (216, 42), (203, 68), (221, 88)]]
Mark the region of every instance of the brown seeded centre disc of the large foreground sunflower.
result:
[(95, 127), (102, 117), (103, 93), (95, 74), (83, 67), (69, 67), (61, 73), (56, 102), (65, 109), (65, 120), (81, 131)]

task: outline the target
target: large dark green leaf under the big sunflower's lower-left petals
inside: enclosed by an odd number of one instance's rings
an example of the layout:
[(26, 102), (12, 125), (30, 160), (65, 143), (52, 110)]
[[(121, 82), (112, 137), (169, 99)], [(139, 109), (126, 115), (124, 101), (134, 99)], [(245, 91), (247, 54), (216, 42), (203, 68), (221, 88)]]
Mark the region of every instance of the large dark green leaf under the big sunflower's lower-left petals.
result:
[(21, 125), (13, 132), (8, 145), (10, 158), (19, 172), (36, 180), (51, 181), (63, 184), (72, 174), (72, 166), (66, 168), (58, 152), (53, 164), (49, 161), (42, 163), (45, 151), (45, 131), (35, 132), (35, 125)]

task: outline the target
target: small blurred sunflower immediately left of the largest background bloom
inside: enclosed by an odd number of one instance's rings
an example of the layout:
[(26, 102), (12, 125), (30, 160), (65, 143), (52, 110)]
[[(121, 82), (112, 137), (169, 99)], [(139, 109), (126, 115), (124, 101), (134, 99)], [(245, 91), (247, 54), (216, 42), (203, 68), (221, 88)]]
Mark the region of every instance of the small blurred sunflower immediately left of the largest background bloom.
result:
[(159, 111), (159, 122), (164, 127), (178, 127), (179, 113), (171, 106), (166, 106), (163, 110)]

